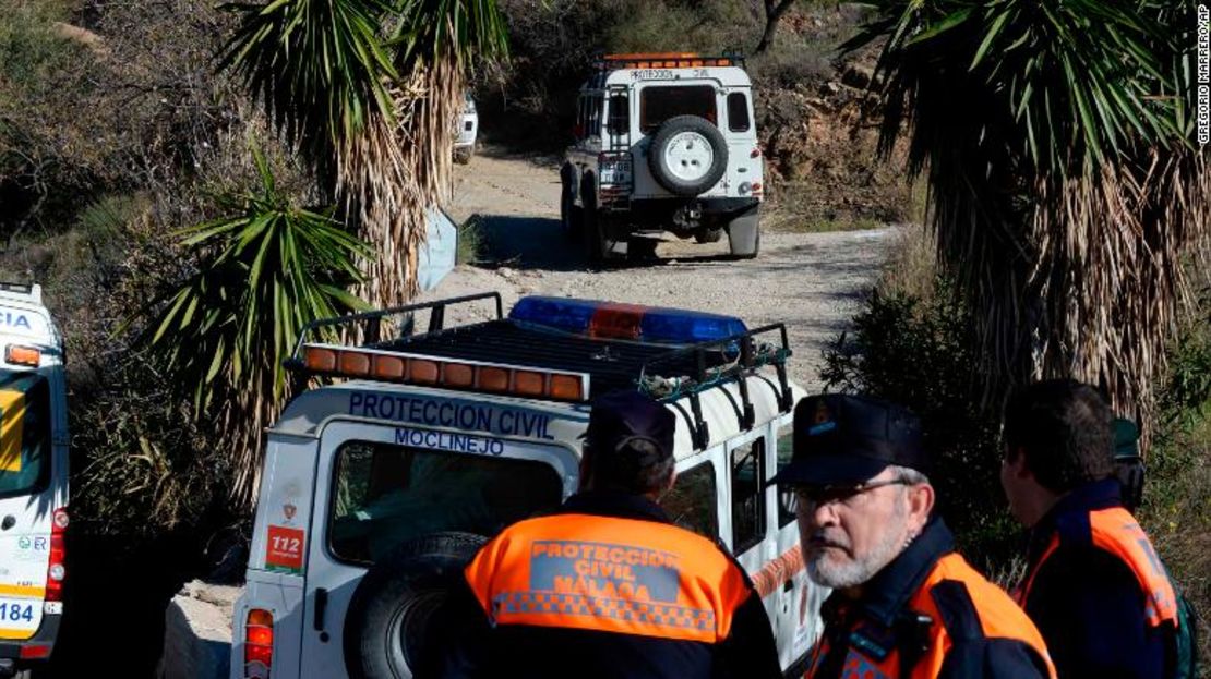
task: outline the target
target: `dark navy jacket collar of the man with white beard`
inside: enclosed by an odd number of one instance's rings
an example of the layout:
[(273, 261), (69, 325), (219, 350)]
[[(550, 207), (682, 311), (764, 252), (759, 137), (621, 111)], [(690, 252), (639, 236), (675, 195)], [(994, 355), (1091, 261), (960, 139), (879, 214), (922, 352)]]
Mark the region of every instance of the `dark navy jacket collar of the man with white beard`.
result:
[[(941, 517), (929, 519), (920, 535), (862, 586), (859, 606), (867, 616), (891, 627), (908, 599), (934, 570), (934, 564), (953, 551), (954, 536), (951, 529), (946, 528)], [(826, 603), (832, 609), (844, 605), (839, 592), (833, 593)]]

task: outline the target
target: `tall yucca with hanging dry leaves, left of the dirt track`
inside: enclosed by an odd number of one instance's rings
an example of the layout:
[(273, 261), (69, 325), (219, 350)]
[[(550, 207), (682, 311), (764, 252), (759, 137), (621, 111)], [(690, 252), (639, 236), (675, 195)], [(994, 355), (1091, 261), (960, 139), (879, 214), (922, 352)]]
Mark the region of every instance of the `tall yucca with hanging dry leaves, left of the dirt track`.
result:
[(242, 77), (358, 232), (363, 292), (415, 292), (425, 217), (450, 191), (455, 119), (475, 54), (506, 52), (495, 0), (271, 0), (241, 15), (220, 68)]

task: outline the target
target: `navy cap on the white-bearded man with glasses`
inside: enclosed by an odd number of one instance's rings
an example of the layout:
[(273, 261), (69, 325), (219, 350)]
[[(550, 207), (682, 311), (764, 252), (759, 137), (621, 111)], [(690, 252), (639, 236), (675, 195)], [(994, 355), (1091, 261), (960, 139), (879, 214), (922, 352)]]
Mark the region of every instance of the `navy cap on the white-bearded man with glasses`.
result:
[(770, 483), (861, 483), (889, 465), (929, 472), (920, 419), (906, 408), (846, 393), (809, 396), (794, 407), (791, 464)]

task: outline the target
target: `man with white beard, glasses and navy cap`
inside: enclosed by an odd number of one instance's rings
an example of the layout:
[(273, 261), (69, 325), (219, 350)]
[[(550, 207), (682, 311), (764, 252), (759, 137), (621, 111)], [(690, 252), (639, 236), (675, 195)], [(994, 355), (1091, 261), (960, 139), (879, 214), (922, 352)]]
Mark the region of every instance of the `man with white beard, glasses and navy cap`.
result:
[(794, 409), (791, 491), (808, 575), (832, 587), (810, 679), (1055, 678), (1038, 629), (934, 516), (920, 421), (862, 396)]

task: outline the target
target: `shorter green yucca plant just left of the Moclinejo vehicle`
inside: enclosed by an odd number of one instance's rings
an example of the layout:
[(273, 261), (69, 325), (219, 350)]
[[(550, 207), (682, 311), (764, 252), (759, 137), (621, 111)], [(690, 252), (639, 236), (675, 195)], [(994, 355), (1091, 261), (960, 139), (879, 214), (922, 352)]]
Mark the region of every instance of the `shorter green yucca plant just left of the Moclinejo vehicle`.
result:
[(191, 391), (234, 458), (231, 499), (253, 500), (262, 431), (288, 396), (282, 362), (304, 324), (362, 310), (346, 288), (369, 248), (333, 217), (294, 205), (253, 148), (256, 191), (218, 197), (224, 215), (182, 232), (199, 270), (168, 295), (149, 327), (150, 345), (176, 384)]

